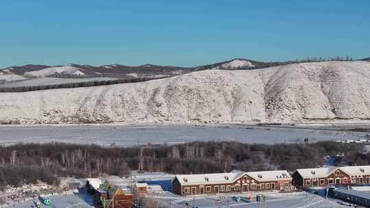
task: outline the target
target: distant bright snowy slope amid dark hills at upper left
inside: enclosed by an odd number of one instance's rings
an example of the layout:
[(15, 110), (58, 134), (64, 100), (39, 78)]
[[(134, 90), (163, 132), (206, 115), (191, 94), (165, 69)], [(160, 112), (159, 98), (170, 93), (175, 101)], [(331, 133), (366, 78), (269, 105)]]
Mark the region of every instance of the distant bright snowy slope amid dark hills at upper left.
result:
[(82, 73), (81, 70), (79, 70), (79, 68), (67, 65), (67, 66), (54, 66), (54, 67), (44, 68), (42, 70), (34, 70), (34, 71), (26, 72), (25, 76), (47, 77), (55, 73), (65, 73), (67, 75), (77, 75), (77, 76), (85, 75), (84, 73)]

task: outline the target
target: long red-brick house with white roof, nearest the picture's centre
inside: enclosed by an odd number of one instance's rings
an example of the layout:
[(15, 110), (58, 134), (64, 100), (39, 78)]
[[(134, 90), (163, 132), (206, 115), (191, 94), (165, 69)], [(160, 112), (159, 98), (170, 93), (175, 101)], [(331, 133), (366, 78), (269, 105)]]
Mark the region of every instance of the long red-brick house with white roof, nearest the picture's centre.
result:
[(176, 175), (172, 192), (180, 196), (261, 192), (291, 189), (291, 176), (286, 170)]

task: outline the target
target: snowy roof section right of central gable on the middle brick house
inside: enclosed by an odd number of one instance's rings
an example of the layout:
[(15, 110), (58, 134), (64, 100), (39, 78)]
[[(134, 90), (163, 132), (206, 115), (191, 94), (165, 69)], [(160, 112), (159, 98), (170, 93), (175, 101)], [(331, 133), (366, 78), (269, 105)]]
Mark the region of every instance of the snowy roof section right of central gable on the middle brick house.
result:
[(271, 170), (271, 171), (258, 171), (258, 172), (246, 172), (256, 181), (282, 181), (291, 180), (291, 175), (286, 170)]

